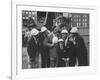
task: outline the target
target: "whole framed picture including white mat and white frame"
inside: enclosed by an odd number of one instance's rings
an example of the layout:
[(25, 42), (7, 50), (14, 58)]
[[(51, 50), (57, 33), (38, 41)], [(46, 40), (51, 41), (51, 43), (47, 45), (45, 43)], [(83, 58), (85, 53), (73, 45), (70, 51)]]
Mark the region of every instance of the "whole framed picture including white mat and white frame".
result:
[(25, 2), (13, 7), (13, 79), (96, 72), (94, 7)]

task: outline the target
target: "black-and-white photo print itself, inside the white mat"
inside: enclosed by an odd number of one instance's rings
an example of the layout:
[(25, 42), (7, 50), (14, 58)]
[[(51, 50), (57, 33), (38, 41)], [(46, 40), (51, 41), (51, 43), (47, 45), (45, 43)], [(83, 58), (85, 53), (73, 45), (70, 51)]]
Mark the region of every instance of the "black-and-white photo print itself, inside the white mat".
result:
[(90, 66), (90, 14), (22, 10), (22, 69)]

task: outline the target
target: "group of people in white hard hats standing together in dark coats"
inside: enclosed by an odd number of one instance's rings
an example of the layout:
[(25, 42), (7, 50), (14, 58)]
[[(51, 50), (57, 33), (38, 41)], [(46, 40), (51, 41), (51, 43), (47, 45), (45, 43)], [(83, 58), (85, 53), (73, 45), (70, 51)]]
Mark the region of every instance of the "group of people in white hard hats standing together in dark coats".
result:
[(58, 17), (51, 30), (46, 25), (40, 29), (30, 27), (23, 39), (27, 40), (31, 68), (35, 68), (36, 55), (39, 54), (42, 68), (89, 65), (84, 40), (77, 27), (68, 25), (66, 17)]

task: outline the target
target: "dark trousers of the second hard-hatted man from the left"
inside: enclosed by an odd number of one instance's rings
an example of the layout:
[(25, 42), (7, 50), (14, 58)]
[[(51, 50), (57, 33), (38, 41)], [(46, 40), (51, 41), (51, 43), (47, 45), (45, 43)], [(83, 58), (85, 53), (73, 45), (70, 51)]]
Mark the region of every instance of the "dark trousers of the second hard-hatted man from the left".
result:
[(42, 68), (50, 67), (50, 55), (48, 52), (42, 52)]

